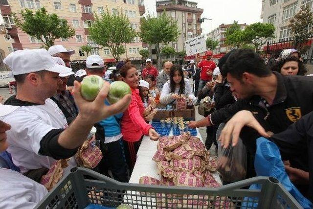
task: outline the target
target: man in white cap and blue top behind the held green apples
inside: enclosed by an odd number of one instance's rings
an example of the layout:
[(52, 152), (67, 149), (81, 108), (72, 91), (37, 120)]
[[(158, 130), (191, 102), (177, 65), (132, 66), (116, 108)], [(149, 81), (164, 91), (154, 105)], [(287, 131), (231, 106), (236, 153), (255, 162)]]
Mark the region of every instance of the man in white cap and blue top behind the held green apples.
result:
[[(86, 67), (87, 75), (104, 76), (104, 62), (99, 55), (94, 54), (87, 57)], [(105, 104), (110, 105), (107, 100)], [(119, 122), (122, 116), (122, 113), (115, 114), (94, 124), (97, 128), (96, 139), (100, 140), (99, 148), (103, 154), (103, 158), (94, 170), (109, 177), (108, 171), (111, 170), (115, 180), (126, 183), (129, 178), (123, 157), (123, 135)]]

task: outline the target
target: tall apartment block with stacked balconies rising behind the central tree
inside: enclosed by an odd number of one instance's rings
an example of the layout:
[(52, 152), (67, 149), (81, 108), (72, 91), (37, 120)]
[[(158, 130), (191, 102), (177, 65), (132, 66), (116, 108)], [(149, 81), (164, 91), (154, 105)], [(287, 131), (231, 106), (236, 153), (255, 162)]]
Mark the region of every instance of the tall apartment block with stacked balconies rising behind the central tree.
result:
[(177, 20), (179, 38), (177, 42), (169, 43), (176, 51), (186, 50), (185, 41), (202, 33), (199, 19), (203, 9), (197, 7), (197, 2), (188, 0), (157, 0), (156, 15), (166, 12), (167, 16)]

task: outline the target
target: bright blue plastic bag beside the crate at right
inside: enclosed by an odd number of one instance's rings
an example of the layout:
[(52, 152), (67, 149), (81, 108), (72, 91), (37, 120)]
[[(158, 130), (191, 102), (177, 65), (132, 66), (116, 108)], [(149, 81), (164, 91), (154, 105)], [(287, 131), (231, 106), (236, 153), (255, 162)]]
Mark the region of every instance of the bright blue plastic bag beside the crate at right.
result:
[[(276, 178), (286, 190), (299, 202), (304, 209), (312, 209), (313, 204), (305, 198), (299, 190), (291, 183), (285, 166), (281, 160), (280, 152), (277, 145), (263, 137), (256, 140), (256, 153), (254, 160), (254, 169), (257, 176), (270, 176)], [(251, 185), (249, 189), (261, 189), (261, 185)], [(249, 200), (256, 200), (249, 198)], [(257, 207), (257, 203), (245, 202), (248, 198), (244, 198), (243, 208)]]

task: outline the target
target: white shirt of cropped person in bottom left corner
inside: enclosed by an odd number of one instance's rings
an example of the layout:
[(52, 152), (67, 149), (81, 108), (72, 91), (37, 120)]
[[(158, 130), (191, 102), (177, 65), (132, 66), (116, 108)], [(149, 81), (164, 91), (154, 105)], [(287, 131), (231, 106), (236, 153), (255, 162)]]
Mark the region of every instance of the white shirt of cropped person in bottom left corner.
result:
[(32, 209), (47, 193), (45, 186), (21, 173), (0, 168), (1, 209)]

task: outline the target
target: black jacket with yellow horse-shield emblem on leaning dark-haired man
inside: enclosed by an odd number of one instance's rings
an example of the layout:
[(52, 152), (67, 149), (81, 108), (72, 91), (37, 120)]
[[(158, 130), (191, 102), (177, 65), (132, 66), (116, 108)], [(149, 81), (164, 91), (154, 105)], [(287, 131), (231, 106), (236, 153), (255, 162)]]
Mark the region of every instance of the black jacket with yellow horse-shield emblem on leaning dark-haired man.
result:
[(210, 115), (213, 124), (227, 121), (238, 111), (251, 111), (260, 124), (273, 133), (287, 129), (289, 125), (313, 111), (313, 77), (283, 76), (273, 72), (277, 77), (277, 92), (273, 104), (266, 107), (260, 96), (249, 100), (238, 100), (233, 105), (215, 111)]

